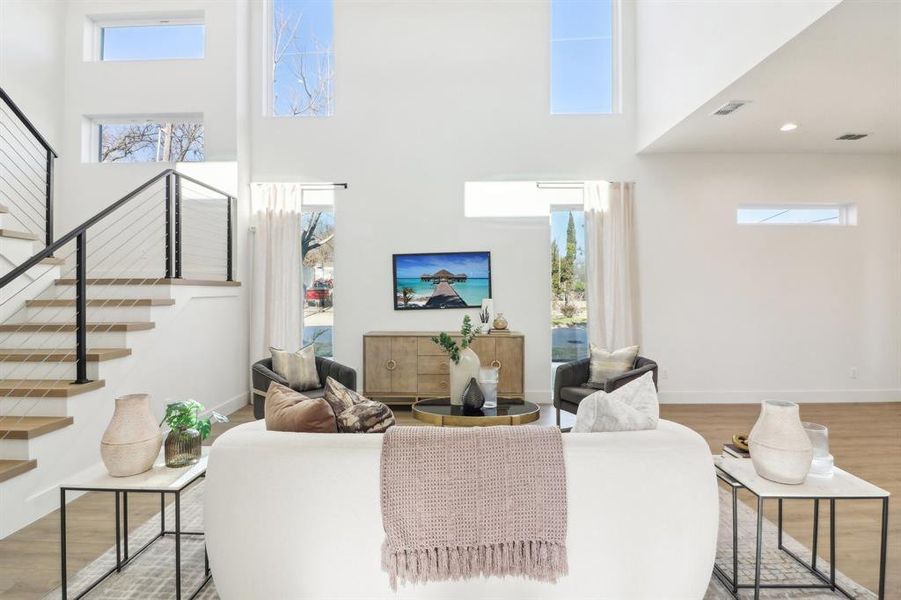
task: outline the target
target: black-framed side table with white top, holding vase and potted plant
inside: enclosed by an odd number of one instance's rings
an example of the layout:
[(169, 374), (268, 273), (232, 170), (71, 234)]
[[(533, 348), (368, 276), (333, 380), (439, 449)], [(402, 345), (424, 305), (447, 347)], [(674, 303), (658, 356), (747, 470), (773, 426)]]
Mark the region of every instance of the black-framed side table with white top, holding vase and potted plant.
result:
[[(182, 531), (181, 528), (181, 494), (192, 483), (206, 475), (207, 453), (209, 449), (203, 448), (203, 455), (197, 464), (180, 469), (166, 467), (165, 460), (160, 454), (153, 468), (144, 473), (131, 477), (112, 477), (101, 475), (88, 481), (67, 482), (59, 488), (59, 526), (60, 526), (60, 588), (62, 598), (69, 596), (68, 581), (66, 576), (66, 493), (67, 492), (107, 492), (115, 496), (116, 518), (116, 564), (109, 571), (91, 582), (85, 589), (74, 596), (74, 600), (84, 597), (91, 590), (100, 585), (113, 573), (119, 573), (131, 561), (140, 556), (154, 542), (165, 536), (173, 536), (175, 539), (175, 598), (181, 600), (181, 538), (184, 535), (203, 536), (202, 531)], [(136, 552), (129, 554), (128, 550), (128, 495), (129, 494), (159, 494), (160, 495), (160, 530), (150, 541), (141, 546)], [(175, 523), (174, 529), (166, 529), (166, 495), (171, 494), (175, 498)], [(123, 535), (124, 534), (124, 535)], [(189, 598), (194, 598), (210, 581), (210, 566), (204, 550), (204, 577), (200, 586), (194, 590)]]

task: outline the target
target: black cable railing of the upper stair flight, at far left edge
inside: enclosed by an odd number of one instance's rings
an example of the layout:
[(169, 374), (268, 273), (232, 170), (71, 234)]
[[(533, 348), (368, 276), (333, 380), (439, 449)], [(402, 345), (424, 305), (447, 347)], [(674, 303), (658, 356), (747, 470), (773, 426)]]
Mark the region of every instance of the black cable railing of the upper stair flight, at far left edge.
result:
[(59, 156), (0, 88), (0, 196), (27, 232), (53, 243), (53, 167)]

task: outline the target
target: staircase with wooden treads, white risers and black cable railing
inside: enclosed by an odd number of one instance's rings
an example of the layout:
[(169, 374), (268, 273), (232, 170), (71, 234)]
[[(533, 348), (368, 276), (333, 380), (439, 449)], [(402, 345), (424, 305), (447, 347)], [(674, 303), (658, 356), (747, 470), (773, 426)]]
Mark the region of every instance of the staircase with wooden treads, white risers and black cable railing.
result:
[(167, 169), (54, 239), (55, 157), (0, 89), (0, 538), (97, 469), (112, 398), (183, 376), (240, 285), (232, 196)]

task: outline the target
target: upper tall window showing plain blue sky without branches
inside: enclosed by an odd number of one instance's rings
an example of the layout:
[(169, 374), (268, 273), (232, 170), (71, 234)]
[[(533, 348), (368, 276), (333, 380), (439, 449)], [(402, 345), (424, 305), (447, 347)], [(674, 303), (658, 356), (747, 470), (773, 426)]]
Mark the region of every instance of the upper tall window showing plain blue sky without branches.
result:
[(551, 113), (615, 112), (613, 0), (551, 0)]

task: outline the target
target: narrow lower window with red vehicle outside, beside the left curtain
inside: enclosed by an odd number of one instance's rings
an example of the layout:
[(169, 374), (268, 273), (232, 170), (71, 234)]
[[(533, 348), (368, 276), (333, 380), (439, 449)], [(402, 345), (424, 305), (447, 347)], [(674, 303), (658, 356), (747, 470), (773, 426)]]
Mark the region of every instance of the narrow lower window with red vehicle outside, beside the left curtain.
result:
[(303, 345), (333, 356), (335, 325), (335, 204), (332, 190), (303, 190)]

